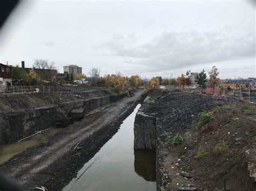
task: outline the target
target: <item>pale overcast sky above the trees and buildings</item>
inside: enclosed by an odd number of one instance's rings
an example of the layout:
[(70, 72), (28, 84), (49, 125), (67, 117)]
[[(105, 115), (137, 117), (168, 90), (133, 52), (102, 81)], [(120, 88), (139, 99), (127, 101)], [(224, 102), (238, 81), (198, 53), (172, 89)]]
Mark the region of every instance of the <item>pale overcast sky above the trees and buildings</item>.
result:
[(23, 1), (0, 34), (0, 62), (79, 65), (87, 74), (256, 77), (255, 6), (237, 1)]

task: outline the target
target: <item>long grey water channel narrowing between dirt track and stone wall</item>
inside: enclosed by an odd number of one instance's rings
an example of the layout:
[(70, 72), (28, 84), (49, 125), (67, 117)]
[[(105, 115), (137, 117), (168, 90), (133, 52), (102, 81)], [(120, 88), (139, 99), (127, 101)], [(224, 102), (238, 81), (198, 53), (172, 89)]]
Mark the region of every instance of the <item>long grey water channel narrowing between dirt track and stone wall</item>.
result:
[(133, 150), (133, 123), (139, 107), (63, 190), (156, 190), (156, 153)]

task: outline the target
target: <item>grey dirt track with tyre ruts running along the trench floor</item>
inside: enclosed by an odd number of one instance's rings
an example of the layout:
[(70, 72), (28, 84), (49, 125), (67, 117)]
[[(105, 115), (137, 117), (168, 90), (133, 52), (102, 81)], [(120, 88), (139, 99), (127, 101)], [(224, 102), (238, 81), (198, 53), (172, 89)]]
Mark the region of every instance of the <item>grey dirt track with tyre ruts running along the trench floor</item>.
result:
[[(81, 122), (75, 122), (43, 144), (15, 155), (1, 165), (0, 169), (29, 189), (41, 185), (48, 190), (62, 189), (76, 177), (77, 171), (85, 162), (117, 132), (123, 119), (136, 106), (133, 103), (141, 93), (138, 90), (132, 98), (125, 97), (95, 110)], [(119, 116), (129, 107), (129, 111)], [(118, 118), (111, 122), (116, 117)]]

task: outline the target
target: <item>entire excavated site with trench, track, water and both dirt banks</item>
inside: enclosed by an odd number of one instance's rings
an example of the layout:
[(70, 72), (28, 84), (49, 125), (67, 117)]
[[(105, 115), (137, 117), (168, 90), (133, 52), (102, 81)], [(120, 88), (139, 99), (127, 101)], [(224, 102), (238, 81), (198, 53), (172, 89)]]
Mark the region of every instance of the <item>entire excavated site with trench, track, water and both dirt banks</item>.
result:
[(1, 172), (29, 190), (255, 189), (255, 104), (133, 92), (0, 95)]

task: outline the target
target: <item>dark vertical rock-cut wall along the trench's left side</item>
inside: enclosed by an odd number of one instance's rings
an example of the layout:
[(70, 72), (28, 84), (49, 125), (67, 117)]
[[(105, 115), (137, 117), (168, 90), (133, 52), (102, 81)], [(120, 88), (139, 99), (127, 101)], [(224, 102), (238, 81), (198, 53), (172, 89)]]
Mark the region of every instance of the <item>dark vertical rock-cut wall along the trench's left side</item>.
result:
[(70, 97), (74, 97), (75, 100), (64, 103), (58, 102), (49, 107), (0, 112), (0, 132), (2, 132), (4, 143), (14, 143), (33, 135), (37, 131), (51, 128), (55, 125), (56, 119), (69, 116), (72, 109), (83, 108), (86, 114), (103, 105), (116, 102), (125, 95), (106, 95), (85, 100), (76, 100), (76, 97), (82, 98), (82, 95), (71, 94), (66, 96), (69, 99), (66, 98), (64, 101), (69, 101)]

